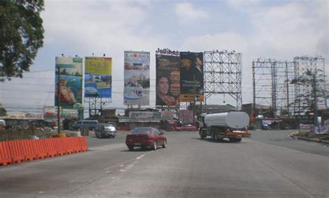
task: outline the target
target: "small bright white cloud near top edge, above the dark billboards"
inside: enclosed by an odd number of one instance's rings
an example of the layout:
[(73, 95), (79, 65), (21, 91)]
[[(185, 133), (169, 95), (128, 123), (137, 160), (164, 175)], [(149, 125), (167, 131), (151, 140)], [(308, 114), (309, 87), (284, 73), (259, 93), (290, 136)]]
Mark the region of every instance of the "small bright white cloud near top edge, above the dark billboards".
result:
[(180, 19), (180, 22), (188, 22), (194, 19), (207, 19), (208, 13), (203, 10), (194, 8), (191, 3), (177, 3), (176, 15)]

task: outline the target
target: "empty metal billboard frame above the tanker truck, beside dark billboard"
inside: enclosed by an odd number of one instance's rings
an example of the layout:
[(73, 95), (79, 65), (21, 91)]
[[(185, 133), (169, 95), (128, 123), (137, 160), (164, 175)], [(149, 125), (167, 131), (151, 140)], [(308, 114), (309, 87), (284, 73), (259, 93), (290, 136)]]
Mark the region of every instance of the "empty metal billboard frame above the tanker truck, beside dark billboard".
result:
[(205, 104), (213, 94), (228, 94), (242, 108), (242, 53), (204, 51)]

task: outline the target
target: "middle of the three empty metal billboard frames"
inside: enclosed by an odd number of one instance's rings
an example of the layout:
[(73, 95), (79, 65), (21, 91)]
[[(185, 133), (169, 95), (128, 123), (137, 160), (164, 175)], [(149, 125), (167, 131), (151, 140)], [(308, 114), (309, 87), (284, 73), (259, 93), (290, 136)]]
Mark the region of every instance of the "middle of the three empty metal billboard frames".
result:
[(274, 115), (290, 115), (294, 99), (294, 63), (261, 59), (253, 61), (253, 113), (256, 104), (269, 106)]

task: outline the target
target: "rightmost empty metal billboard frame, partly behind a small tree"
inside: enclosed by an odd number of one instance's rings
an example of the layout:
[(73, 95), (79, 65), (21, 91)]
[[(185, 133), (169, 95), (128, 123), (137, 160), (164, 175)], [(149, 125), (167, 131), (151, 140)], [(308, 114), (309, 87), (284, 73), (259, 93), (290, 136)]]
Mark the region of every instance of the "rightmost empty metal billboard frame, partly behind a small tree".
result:
[[(314, 75), (316, 85), (317, 108), (326, 108), (326, 77), (325, 77), (325, 60), (321, 56), (296, 56), (294, 57), (294, 75), (296, 78), (304, 76), (310, 71)], [(304, 115), (307, 111), (305, 101), (307, 100), (307, 93), (312, 92), (312, 86), (301, 85), (296, 83), (294, 85), (296, 99), (294, 100), (294, 115)]]

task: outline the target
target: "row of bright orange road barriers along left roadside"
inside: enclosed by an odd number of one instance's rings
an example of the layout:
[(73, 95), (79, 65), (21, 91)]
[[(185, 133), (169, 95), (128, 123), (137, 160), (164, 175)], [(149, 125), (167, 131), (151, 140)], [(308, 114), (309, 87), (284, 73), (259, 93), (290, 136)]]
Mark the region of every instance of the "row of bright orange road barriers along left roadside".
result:
[(74, 154), (88, 150), (85, 137), (0, 142), (0, 165)]

